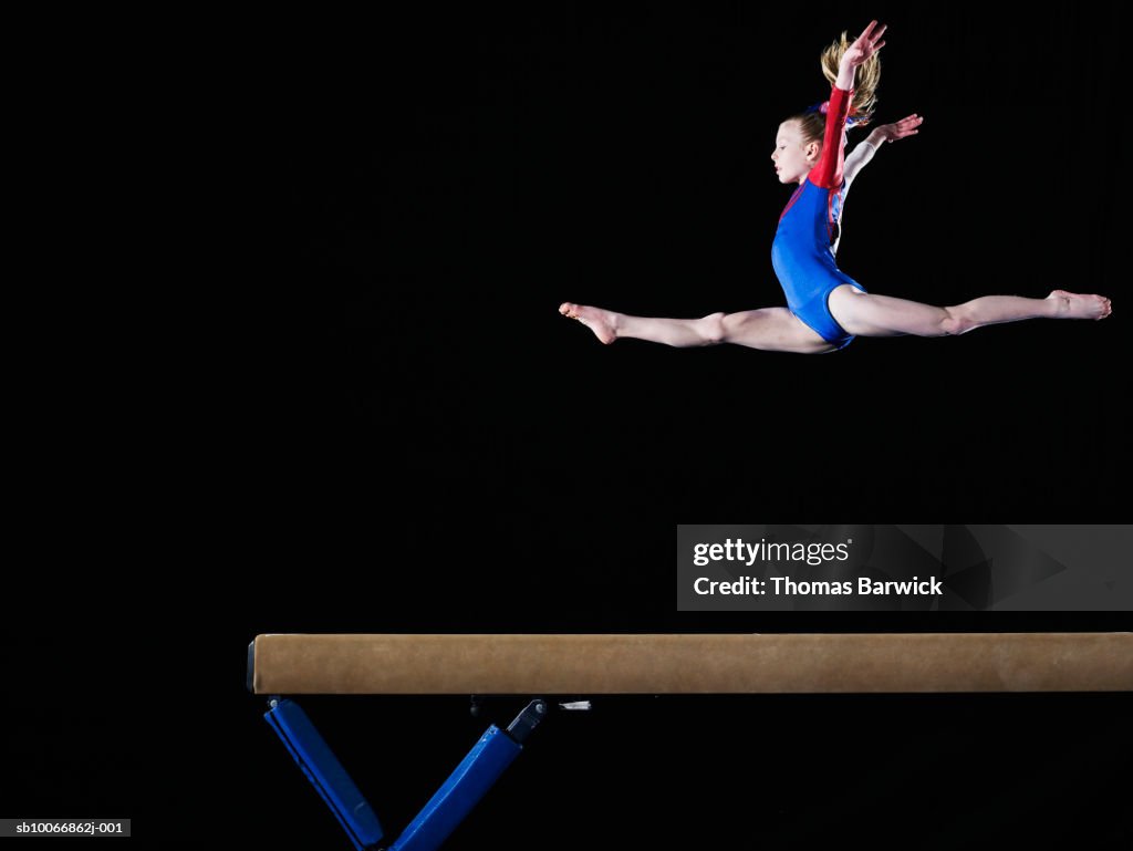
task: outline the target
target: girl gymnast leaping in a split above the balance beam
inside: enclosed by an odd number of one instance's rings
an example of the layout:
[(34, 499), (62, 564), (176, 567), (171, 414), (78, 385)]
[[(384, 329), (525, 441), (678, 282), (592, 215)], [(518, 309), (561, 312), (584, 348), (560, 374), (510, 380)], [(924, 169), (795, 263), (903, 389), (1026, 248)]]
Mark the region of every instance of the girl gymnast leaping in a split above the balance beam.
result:
[(780, 125), (772, 161), (781, 184), (799, 186), (780, 215), (772, 242), (772, 265), (786, 293), (786, 307), (714, 313), (699, 320), (628, 316), (570, 301), (559, 312), (581, 322), (604, 343), (628, 337), (682, 348), (727, 342), (808, 355), (841, 349), (855, 335), (947, 337), (1017, 320), (1108, 316), (1108, 298), (1066, 290), (1054, 290), (1046, 298), (985, 296), (934, 307), (869, 293), (837, 267), (834, 255), (851, 180), (880, 145), (915, 135), (923, 121), (912, 114), (877, 127), (845, 158), (846, 127), (862, 126), (872, 116), (884, 34), (885, 26), (878, 27), (876, 20), (852, 43), (843, 33), (821, 57), (823, 73), (832, 84), (829, 101)]

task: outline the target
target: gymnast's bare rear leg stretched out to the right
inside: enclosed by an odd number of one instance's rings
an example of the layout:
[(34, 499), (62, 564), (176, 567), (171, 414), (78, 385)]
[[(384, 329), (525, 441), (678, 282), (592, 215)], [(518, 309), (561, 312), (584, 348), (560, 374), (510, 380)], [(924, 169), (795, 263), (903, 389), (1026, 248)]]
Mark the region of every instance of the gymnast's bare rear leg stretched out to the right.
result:
[(1055, 290), (1046, 298), (985, 296), (955, 307), (932, 307), (862, 292), (850, 284), (835, 289), (827, 304), (846, 332), (861, 337), (946, 337), (1017, 320), (1101, 320), (1110, 309), (1108, 298), (1065, 290)]

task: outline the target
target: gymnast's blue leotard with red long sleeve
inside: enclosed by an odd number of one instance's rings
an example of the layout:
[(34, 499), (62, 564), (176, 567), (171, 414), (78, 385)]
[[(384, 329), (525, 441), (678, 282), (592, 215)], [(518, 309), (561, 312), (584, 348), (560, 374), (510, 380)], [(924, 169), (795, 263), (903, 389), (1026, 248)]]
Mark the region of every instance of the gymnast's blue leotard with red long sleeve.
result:
[(826, 301), (843, 283), (866, 291), (837, 267), (830, 248), (842, 219), (845, 190), (842, 167), (851, 94), (837, 86), (830, 90), (823, 155), (787, 202), (772, 242), (772, 265), (791, 313), (840, 349), (847, 346), (853, 335), (838, 325)]

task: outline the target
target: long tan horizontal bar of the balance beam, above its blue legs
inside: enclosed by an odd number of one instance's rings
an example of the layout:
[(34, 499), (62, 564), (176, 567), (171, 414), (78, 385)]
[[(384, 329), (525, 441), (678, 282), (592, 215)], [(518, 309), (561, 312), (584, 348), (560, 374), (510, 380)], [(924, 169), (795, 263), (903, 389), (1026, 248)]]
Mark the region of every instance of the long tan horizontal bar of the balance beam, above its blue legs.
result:
[(1133, 632), (262, 635), (257, 695), (1133, 691)]

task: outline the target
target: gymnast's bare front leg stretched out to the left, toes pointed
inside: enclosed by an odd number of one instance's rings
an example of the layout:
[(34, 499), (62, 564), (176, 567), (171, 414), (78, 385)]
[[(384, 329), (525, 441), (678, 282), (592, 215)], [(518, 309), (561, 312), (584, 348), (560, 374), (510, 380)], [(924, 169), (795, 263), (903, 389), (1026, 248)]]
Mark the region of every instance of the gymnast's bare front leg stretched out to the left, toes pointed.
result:
[(627, 316), (565, 301), (559, 313), (578, 320), (604, 343), (623, 337), (679, 348), (735, 343), (767, 351), (817, 354), (834, 347), (809, 329), (785, 307), (766, 307), (742, 313), (714, 313), (699, 320), (665, 320)]

